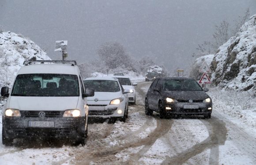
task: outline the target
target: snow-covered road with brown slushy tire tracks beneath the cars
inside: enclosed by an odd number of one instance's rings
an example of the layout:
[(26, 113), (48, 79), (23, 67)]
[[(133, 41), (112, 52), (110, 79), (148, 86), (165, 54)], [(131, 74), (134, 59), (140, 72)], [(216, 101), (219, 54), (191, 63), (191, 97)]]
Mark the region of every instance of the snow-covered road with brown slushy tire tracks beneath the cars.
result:
[[(211, 119), (160, 119), (158, 114), (146, 116), (144, 112), (143, 102), (150, 84), (138, 84), (137, 105), (129, 107), (126, 123), (90, 124), (85, 146), (63, 146), (58, 141), (52, 144), (25, 139), (17, 141), (13, 147), (5, 147), (0, 140), (0, 164), (256, 164), (256, 130), (253, 124), (223, 113), (222, 109), (228, 106), (222, 104), (214, 92), (209, 92), (215, 100)], [(255, 110), (251, 113), (249, 121), (255, 120)]]

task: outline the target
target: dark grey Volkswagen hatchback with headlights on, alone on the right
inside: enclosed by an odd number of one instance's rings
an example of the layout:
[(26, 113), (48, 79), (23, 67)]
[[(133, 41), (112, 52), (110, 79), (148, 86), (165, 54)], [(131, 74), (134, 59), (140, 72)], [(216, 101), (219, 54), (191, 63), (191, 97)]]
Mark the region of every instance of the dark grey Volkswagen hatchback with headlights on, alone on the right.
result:
[(160, 118), (181, 114), (211, 118), (212, 100), (205, 93), (207, 91), (207, 88), (201, 88), (192, 78), (156, 78), (147, 91), (145, 113), (152, 115), (153, 111), (156, 111)]

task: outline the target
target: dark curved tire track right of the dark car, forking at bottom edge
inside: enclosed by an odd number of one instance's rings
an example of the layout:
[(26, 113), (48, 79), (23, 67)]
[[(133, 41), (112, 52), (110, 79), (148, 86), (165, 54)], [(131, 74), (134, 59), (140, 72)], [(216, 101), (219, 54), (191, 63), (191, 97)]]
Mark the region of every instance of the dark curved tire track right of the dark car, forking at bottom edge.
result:
[(203, 124), (207, 127), (209, 132), (209, 137), (205, 139), (203, 142), (194, 145), (193, 147), (185, 150), (184, 152), (175, 155), (173, 157), (167, 157), (162, 165), (182, 165), (188, 159), (196, 156), (197, 154), (202, 153), (204, 150), (211, 149), (210, 155), (210, 164), (218, 165), (218, 146), (224, 145), (226, 141), (226, 124), (219, 120), (216, 117), (212, 117), (211, 119), (200, 119)]

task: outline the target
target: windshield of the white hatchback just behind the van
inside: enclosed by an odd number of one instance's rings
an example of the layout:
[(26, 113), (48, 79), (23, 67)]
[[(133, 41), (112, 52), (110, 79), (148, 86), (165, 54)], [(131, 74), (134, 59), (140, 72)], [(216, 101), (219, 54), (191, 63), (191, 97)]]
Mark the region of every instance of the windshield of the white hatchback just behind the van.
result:
[(119, 92), (119, 84), (112, 80), (85, 80), (85, 88), (93, 88), (94, 92)]

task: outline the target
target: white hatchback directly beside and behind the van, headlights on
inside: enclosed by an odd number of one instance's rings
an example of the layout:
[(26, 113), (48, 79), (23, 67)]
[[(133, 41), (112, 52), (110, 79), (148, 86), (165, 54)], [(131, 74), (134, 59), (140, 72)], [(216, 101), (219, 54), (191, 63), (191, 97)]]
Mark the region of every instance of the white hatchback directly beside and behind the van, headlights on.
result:
[(129, 90), (119, 84), (117, 78), (92, 77), (83, 81), (86, 88), (94, 89), (94, 96), (88, 97), (89, 117), (126, 120), (128, 117)]

